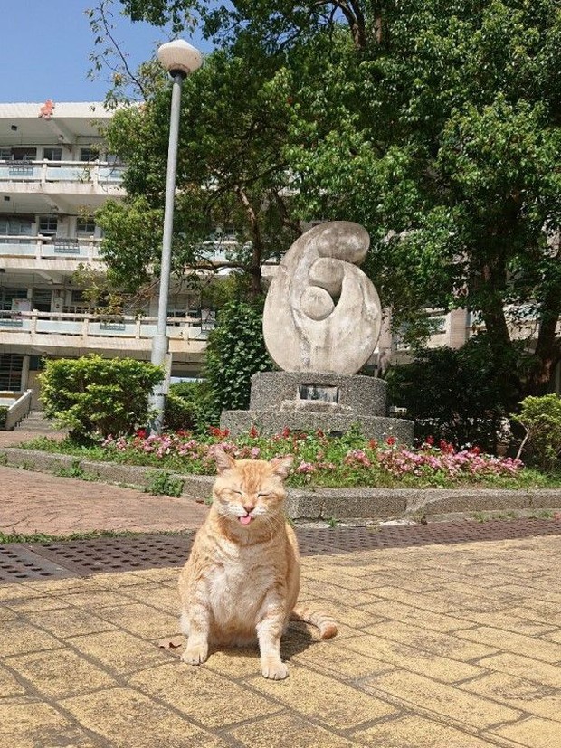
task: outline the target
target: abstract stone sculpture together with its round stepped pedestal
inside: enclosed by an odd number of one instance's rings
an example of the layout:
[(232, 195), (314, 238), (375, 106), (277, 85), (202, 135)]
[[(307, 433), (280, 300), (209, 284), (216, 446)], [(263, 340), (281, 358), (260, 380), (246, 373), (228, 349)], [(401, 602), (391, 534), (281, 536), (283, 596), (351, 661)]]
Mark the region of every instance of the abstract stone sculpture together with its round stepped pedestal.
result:
[(382, 317), (376, 289), (356, 267), (369, 244), (366, 230), (347, 221), (322, 223), (292, 244), (263, 312), (265, 345), (284, 371), (253, 374), (250, 409), (223, 411), (223, 428), (336, 434), (358, 423), (368, 438), (413, 440), (413, 421), (387, 417), (385, 382), (356, 374)]

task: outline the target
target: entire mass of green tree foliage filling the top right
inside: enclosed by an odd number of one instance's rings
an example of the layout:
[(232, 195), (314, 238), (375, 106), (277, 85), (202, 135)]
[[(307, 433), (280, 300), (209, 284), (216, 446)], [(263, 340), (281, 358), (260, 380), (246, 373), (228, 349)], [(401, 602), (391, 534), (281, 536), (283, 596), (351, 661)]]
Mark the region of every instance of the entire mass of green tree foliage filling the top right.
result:
[[(298, 220), (354, 220), (396, 327), (416, 335), (423, 308), (468, 308), (496, 355), (531, 328), (523, 389), (547, 383), (561, 355), (556, 0), (120, 5), (176, 31), (196, 18), (217, 45), (185, 81), (180, 262), (230, 214), (257, 285)], [(109, 132), (130, 204), (149, 211), (161, 209), (167, 96)]]

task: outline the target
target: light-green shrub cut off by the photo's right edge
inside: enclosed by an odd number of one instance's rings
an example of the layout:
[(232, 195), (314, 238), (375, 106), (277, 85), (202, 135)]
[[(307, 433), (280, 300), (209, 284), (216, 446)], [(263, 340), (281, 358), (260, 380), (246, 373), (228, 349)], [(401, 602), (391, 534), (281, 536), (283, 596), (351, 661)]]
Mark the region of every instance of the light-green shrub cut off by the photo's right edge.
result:
[(518, 415), (512, 417), (528, 431), (528, 444), (539, 468), (556, 469), (561, 452), (561, 397), (527, 397), (520, 403)]

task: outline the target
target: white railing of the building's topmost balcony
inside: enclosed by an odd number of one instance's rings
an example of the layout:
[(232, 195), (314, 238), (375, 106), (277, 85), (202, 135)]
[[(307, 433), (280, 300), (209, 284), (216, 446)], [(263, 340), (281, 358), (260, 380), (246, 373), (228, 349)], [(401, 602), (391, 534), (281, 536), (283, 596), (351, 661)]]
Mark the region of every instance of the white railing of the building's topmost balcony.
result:
[(124, 166), (90, 161), (0, 161), (0, 182), (119, 185)]

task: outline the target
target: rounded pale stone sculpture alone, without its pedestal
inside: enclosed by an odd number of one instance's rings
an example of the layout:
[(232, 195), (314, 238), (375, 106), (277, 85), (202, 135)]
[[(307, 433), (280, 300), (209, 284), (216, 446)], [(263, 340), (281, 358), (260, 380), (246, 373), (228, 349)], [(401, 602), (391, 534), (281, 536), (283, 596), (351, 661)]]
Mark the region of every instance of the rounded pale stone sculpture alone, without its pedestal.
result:
[(358, 223), (322, 223), (295, 241), (279, 265), (263, 311), (272, 360), (286, 372), (356, 374), (380, 334), (380, 299), (356, 266), (368, 232)]

